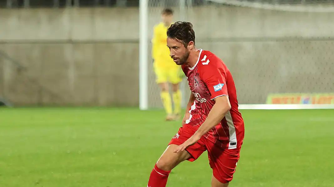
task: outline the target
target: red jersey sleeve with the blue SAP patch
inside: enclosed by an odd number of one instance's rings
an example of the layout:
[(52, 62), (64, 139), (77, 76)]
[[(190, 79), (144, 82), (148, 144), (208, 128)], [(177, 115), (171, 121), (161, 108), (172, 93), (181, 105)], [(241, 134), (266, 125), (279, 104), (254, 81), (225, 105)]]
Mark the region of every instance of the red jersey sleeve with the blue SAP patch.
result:
[(219, 62), (212, 62), (206, 65), (201, 65), (200, 71), (201, 79), (204, 81), (210, 91), (211, 100), (223, 95), (228, 96), (226, 85), (226, 70), (223, 66), (216, 66), (215, 63)]

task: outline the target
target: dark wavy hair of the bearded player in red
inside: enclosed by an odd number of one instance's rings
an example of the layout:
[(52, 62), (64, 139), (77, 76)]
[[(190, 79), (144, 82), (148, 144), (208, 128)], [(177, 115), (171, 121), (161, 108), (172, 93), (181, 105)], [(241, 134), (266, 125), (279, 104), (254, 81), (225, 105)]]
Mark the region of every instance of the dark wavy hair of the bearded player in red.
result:
[(187, 47), (190, 41), (195, 45), (195, 31), (190, 22), (175, 22), (167, 29), (167, 37), (181, 42), (184, 47)]

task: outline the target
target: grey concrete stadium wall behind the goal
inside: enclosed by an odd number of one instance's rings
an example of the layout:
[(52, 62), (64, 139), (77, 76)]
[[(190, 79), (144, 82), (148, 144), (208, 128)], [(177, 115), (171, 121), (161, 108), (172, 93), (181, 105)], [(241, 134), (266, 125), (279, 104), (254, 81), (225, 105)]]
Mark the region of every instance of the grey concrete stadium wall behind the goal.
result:
[[(149, 10), (151, 36), (160, 9)], [(239, 103), (334, 92), (334, 13), (196, 7), (185, 14), (197, 47), (231, 70)], [(17, 71), (0, 56), (0, 94), (17, 105), (137, 106), (138, 18), (138, 8), (0, 10), (0, 50), (26, 67)], [(150, 106), (161, 106), (149, 77)]]

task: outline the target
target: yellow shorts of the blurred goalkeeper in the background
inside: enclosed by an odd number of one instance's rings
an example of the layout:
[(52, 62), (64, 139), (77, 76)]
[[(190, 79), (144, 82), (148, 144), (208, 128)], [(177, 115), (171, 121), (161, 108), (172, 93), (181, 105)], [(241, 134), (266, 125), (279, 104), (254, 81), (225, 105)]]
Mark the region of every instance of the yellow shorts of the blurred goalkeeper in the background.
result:
[(178, 84), (182, 81), (182, 70), (181, 67), (177, 68), (160, 68), (157, 66), (154, 66), (154, 72), (156, 76), (156, 83), (172, 83), (172, 84)]

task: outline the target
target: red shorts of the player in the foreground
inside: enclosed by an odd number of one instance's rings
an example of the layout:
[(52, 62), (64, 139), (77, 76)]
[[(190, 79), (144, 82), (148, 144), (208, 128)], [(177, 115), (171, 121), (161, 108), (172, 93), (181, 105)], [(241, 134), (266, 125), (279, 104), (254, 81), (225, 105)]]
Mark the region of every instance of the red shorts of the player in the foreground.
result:
[[(178, 133), (170, 141), (170, 144), (181, 145), (190, 138), (198, 129), (192, 126), (191, 122), (180, 127)], [(239, 144), (239, 142), (238, 142)], [(242, 142), (235, 149), (222, 148), (203, 136), (193, 145), (186, 148), (191, 157), (189, 161), (195, 161), (204, 151), (208, 151), (209, 164), (213, 171), (213, 176), (221, 183), (230, 182), (235, 172), (235, 167), (240, 157)]]

